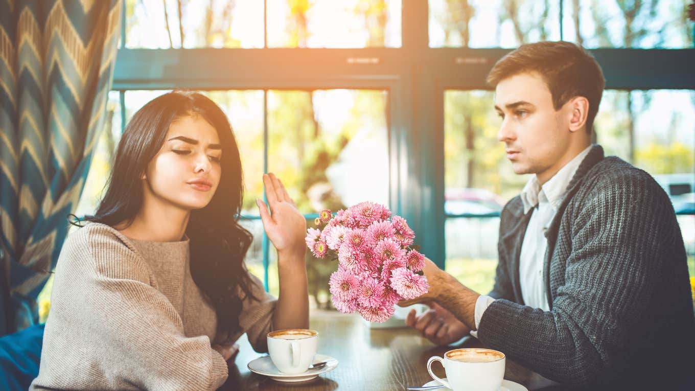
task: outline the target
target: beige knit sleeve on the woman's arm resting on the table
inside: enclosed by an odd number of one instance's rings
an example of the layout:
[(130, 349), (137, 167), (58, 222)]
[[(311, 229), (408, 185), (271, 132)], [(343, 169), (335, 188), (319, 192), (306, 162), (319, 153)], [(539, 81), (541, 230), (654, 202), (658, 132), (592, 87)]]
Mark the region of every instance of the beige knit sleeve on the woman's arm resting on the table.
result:
[(152, 286), (147, 264), (103, 227), (68, 240), (58, 262), (33, 389), (215, 390), (227, 363)]

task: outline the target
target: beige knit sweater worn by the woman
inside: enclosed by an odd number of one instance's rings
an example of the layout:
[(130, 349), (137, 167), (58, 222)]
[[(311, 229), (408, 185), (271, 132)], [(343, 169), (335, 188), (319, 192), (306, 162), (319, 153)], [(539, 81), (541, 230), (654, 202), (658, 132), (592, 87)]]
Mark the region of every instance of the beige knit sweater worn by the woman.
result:
[[(275, 298), (257, 278), (239, 324), (266, 351)], [(140, 241), (88, 223), (60, 252), (39, 375), (30, 390), (215, 390), (234, 342), (190, 275), (188, 239)]]

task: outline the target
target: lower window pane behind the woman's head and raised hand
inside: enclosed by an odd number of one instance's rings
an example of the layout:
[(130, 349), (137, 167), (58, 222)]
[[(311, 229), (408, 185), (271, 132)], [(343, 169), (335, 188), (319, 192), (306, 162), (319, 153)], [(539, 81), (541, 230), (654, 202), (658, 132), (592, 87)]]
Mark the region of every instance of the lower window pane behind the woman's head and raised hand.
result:
[[(111, 129), (99, 141), (83, 196), (76, 214), (95, 211), (101, 199), (113, 151), (121, 127), (161, 90), (124, 91), (125, 112), (120, 112), (120, 93), (111, 92), (108, 116)], [(244, 172), (242, 224), (254, 235), (247, 255), (249, 269), (268, 289), (278, 293), (277, 258), (263, 239), (263, 225), (256, 198), (263, 198), (261, 176), (265, 170), (283, 179), (297, 207), (313, 226), (316, 212), (374, 200), (389, 205), (388, 128), (386, 99), (382, 90), (225, 90), (204, 91), (227, 113), (236, 136)], [(263, 100), (267, 99), (267, 111)], [(264, 119), (265, 118), (265, 119)], [(264, 130), (264, 123), (267, 129)], [(265, 151), (265, 152), (264, 152)], [(364, 157), (370, 159), (364, 159)], [(310, 255), (307, 255), (310, 256)], [(317, 278), (325, 271), (318, 261), (308, 262)], [(325, 268), (329, 269), (329, 268)], [(265, 274), (268, 270), (268, 274)], [(318, 287), (320, 288), (320, 287)], [(325, 289), (312, 290), (325, 303)]]

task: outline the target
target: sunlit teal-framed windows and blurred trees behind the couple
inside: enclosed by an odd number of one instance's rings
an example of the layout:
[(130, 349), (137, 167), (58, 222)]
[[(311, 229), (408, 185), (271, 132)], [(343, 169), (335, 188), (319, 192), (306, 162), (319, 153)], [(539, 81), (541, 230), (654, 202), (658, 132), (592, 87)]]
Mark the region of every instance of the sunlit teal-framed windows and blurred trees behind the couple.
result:
[[(107, 125), (76, 210), (95, 211), (124, 125), (172, 88), (227, 113), (245, 175), (246, 264), (277, 295), (277, 257), (254, 199), (276, 173), (307, 225), (371, 200), (477, 292), (497, 264), (499, 213), (528, 180), (496, 140), (484, 77), (521, 43), (568, 40), (607, 79), (595, 139), (671, 197), (695, 276), (694, 45), (685, 0), (124, 0)], [(692, 49), (690, 49), (692, 51)], [(691, 52), (692, 53), (692, 52)], [(691, 54), (692, 56), (692, 54)], [(681, 67), (679, 67), (681, 66)], [(689, 75), (685, 77), (684, 75)], [(315, 307), (336, 264), (307, 255)], [(49, 310), (51, 280), (39, 296)]]

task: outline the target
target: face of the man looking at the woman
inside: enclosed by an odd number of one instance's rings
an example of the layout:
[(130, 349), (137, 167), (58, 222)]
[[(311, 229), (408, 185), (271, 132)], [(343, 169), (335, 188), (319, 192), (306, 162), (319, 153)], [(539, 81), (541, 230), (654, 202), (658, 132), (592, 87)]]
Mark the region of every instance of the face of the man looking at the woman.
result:
[(543, 183), (566, 163), (571, 116), (566, 106), (555, 111), (553, 96), (538, 74), (516, 74), (498, 83), (495, 109), (502, 125), (497, 138), (505, 143), (514, 173), (536, 174)]

